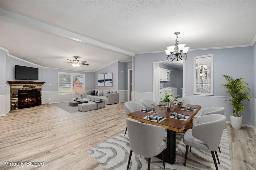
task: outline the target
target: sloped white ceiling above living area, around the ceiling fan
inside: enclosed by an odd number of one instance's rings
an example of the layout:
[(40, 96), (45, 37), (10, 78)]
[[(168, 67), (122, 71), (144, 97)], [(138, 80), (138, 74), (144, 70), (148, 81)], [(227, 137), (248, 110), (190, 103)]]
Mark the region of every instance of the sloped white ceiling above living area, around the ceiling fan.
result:
[(0, 17), (0, 46), (9, 50), (9, 54), (44, 67), (73, 69), (72, 56), (80, 61), (86, 60), (89, 66), (81, 65), (78, 70), (95, 71), (115, 60), (127, 61), (131, 56), (123, 55), (103, 48), (73, 41), (58, 35), (28, 28), (18, 21)]

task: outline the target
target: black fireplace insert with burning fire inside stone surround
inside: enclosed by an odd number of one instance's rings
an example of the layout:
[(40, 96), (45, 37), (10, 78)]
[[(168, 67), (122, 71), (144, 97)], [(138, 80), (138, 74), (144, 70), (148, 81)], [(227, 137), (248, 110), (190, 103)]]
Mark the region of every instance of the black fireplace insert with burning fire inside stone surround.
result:
[(18, 109), (41, 105), (41, 93), (38, 90), (19, 90)]

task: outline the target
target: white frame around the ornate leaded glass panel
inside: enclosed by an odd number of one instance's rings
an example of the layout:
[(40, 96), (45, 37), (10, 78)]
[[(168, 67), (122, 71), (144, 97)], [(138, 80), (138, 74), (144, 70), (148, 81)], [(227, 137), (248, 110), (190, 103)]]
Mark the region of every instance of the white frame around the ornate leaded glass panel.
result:
[[(210, 78), (209, 78), (210, 89), (206, 90), (206, 92), (197, 92), (197, 78), (198, 78), (198, 76), (197, 76), (197, 64), (198, 64), (197, 59), (199, 59), (199, 58), (201, 59), (200, 62), (202, 62), (202, 60), (208, 61), (208, 66), (210, 66), (210, 68), (207, 67), (207, 71), (210, 71)], [(203, 58), (205, 58), (205, 59), (203, 59)], [(200, 80), (200, 78), (199, 78), (199, 80)], [(208, 83), (207, 83), (207, 85), (208, 85)], [(210, 91), (210, 93), (209, 93), (209, 91)], [(207, 54), (207, 55), (201, 55), (201, 56), (194, 57), (194, 94), (214, 95), (214, 54)]]

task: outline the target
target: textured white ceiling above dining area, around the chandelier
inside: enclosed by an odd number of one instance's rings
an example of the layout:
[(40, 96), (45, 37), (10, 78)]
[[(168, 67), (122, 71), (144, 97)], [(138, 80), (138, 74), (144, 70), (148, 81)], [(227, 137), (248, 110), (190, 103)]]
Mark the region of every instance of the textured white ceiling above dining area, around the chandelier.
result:
[(2, 8), (132, 52), (250, 44), (255, 0), (53, 1), (1, 0)]

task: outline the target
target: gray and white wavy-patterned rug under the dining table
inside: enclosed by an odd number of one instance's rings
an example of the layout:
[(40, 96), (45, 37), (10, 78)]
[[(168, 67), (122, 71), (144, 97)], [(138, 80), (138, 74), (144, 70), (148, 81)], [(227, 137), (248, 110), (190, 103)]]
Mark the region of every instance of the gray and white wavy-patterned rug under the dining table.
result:
[[(186, 166), (183, 166), (186, 150), (186, 145), (183, 143), (184, 133), (185, 132), (176, 133), (176, 163), (173, 165), (165, 163), (165, 169), (215, 169), (211, 152), (195, 149), (193, 147), (191, 152), (188, 151)], [(126, 133), (124, 136), (124, 133), (121, 133), (120, 135), (93, 147), (87, 152), (99, 161), (106, 169), (126, 169), (130, 153), (128, 135)], [(220, 160), (218, 168), (231, 169), (226, 129), (224, 129), (222, 134), (220, 150), (221, 153), (217, 151)], [(130, 168), (132, 170), (147, 169), (147, 158), (140, 157), (133, 152), (130, 164)], [(150, 167), (151, 169), (163, 169), (162, 160), (156, 157), (151, 158)]]

